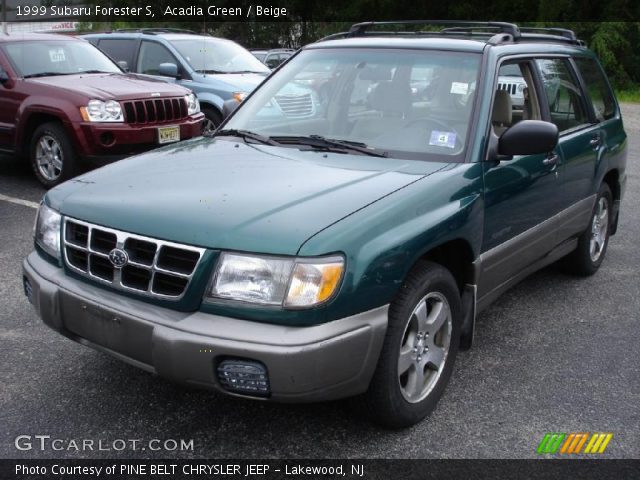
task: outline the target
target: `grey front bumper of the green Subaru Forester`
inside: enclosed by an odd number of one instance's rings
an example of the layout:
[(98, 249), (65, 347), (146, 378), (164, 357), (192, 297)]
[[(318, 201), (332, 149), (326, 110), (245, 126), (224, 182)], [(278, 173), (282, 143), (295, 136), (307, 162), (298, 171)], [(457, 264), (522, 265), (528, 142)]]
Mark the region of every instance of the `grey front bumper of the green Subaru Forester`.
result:
[(72, 340), (171, 380), (225, 393), (219, 362), (257, 360), (267, 368), (270, 399), (282, 402), (363, 393), (387, 327), (387, 306), (312, 327), (177, 312), (76, 280), (37, 252), (24, 260), (23, 274), (44, 323)]

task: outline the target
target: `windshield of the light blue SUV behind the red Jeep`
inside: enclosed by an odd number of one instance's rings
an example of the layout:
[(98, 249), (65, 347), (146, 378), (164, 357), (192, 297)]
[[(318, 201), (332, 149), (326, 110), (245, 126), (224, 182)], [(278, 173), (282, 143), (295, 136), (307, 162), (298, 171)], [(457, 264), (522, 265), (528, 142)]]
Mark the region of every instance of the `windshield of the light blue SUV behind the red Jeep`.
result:
[(172, 40), (171, 44), (197, 72), (269, 73), (270, 70), (237, 43), (216, 38), (196, 37)]

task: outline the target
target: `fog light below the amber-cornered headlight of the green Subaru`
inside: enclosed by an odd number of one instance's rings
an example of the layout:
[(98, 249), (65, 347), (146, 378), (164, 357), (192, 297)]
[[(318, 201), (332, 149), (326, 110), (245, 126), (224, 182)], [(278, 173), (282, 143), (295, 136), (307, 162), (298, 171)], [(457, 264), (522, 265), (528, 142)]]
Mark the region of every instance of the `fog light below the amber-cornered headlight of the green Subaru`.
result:
[(265, 397), (270, 392), (267, 367), (253, 360), (223, 360), (218, 365), (218, 381), (234, 393)]

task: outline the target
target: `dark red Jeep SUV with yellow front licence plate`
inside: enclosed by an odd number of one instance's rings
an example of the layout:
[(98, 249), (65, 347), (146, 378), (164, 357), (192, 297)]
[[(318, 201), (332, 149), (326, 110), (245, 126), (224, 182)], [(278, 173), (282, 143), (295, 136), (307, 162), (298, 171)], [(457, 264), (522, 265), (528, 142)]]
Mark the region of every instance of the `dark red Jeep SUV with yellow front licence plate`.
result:
[(191, 91), (125, 74), (89, 42), (0, 37), (0, 152), (28, 157), (46, 187), (101, 165), (200, 135)]

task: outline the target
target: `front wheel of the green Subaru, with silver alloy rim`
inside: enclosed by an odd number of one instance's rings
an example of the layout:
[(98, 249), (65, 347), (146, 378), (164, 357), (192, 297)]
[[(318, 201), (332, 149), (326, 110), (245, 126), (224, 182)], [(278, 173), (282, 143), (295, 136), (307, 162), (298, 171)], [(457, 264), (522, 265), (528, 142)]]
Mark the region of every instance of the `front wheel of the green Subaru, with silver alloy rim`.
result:
[(460, 293), (445, 268), (420, 263), (389, 309), (389, 325), (364, 403), (385, 427), (414, 425), (436, 406), (460, 340)]

